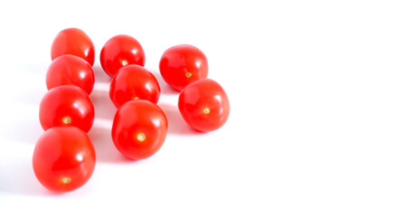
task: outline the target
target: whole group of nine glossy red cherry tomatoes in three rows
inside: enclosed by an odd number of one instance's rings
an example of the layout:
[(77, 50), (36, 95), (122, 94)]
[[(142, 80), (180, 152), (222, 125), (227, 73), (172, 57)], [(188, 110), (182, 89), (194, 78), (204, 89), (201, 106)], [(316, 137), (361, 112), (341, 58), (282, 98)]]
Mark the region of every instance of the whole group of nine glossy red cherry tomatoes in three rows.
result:
[[(85, 184), (96, 162), (87, 132), (95, 117), (90, 92), (94, 87), (95, 50), (90, 37), (77, 28), (64, 29), (52, 42), (52, 63), (46, 74), (49, 90), (40, 103), (45, 130), (33, 152), (33, 170), (49, 190), (68, 192)], [(144, 68), (145, 52), (129, 35), (116, 35), (100, 52), (102, 69), (112, 78), (109, 97), (118, 111), (111, 137), (118, 151), (131, 159), (153, 156), (165, 142), (168, 120), (156, 105), (160, 86)], [(216, 81), (207, 79), (208, 62), (198, 48), (176, 45), (160, 59), (160, 73), (179, 90), (178, 109), (199, 131), (222, 127), (229, 117), (229, 99)]]

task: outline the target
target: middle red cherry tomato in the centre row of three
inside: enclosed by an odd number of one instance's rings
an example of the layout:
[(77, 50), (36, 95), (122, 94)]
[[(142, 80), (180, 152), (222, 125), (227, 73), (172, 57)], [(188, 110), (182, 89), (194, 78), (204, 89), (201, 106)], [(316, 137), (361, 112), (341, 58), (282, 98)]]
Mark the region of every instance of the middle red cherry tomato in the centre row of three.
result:
[(117, 108), (132, 99), (147, 99), (156, 104), (160, 98), (160, 86), (152, 72), (142, 66), (128, 65), (113, 77), (109, 97)]

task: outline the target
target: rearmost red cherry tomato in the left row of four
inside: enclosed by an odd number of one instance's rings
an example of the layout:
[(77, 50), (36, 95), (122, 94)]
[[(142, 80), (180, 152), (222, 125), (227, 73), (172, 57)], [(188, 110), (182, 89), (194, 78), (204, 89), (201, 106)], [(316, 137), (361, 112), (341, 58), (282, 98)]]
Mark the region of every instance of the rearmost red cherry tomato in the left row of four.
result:
[(64, 29), (57, 34), (51, 46), (52, 61), (64, 54), (72, 54), (88, 61), (95, 61), (94, 43), (90, 37), (78, 28)]

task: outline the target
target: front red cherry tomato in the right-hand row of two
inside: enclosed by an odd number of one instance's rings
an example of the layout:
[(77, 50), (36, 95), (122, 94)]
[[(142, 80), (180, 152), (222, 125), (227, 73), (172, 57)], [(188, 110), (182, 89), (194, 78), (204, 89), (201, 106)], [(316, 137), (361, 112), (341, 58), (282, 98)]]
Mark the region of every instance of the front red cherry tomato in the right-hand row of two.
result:
[(179, 95), (178, 108), (186, 123), (200, 131), (213, 131), (224, 125), (230, 104), (226, 92), (214, 80), (197, 80)]

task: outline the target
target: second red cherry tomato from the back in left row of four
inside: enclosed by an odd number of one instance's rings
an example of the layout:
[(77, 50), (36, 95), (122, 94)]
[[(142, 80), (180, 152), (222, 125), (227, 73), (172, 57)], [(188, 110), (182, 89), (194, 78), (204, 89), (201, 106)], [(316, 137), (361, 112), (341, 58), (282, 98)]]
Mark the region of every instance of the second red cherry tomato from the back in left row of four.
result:
[(76, 85), (90, 94), (94, 88), (94, 71), (90, 64), (78, 56), (61, 55), (53, 60), (46, 74), (47, 89), (61, 85)]

